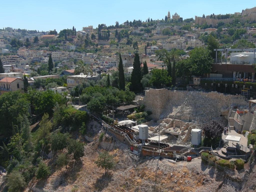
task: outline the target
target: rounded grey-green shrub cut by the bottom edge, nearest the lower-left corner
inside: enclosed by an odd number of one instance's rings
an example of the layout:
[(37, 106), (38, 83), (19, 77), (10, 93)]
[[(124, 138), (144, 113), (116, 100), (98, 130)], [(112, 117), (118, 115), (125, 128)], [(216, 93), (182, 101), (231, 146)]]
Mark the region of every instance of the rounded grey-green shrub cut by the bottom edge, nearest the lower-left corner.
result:
[(7, 186), (8, 191), (17, 192), (23, 191), (25, 188), (25, 180), (24, 177), (19, 173), (19, 171), (14, 170), (12, 173), (8, 175)]

